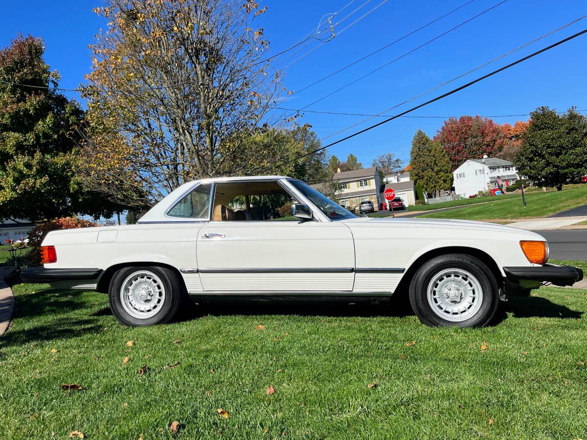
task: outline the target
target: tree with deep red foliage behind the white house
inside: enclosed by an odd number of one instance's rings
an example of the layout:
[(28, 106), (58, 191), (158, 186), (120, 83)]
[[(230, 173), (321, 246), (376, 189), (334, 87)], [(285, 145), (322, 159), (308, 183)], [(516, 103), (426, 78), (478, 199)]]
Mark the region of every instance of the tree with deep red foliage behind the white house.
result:
[(504, 129), (481, 116), (448, 118), (433, 140), (444, 146), (453, 170), (468, 159), (478, 159), (484, 154), (494, 156), (508, 143)]

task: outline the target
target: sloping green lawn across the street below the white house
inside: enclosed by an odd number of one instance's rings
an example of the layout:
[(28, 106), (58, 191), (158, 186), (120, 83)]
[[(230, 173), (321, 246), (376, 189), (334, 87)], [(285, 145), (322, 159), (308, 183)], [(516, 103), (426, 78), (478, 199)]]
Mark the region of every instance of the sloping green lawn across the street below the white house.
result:
[(565, 209), (587, 204), (587, 185), (571, 187), (562, 191), (534, 192), (526, 197), (527, 207), (522, 207), (521, 198), (499, 199), (470, 207), (429, 212), (419, 218), (454, 218), (464, 220), (519, 219), (541, 217)]

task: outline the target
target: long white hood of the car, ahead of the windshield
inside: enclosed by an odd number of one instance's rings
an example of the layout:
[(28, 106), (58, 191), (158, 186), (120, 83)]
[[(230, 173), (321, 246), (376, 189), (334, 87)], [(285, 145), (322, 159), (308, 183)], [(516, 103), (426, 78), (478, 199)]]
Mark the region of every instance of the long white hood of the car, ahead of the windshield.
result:
[(475, 222), (470, 220), (444, 220), (433, 218), (377, 218), (377, 217), (357, 217), (349, 220), (344, 220), (345, 224), (358, 225), (368, 223), (369, 226), (384, 227), (384, 226), (405, 226), (406, 228), (440, 228), (440, 229), (474, 229), (476, 231), (485, 232), (506, 232), (517, 233), (518, 235), (527, 235), (531, 240), (546, 239), (541, 235), (525, 231), (524, 229), (512, 228), (511, 226), (497, 225), (494, 223)]

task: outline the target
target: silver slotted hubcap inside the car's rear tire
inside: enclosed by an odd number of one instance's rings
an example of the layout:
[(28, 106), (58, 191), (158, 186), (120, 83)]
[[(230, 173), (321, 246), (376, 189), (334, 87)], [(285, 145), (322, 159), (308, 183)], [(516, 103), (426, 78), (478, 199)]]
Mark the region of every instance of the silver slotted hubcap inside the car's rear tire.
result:
[(161, 310), (165, 289), (157, 275), (141, 270), (126, 277), (120, 289), (120, 300), (131, 316), (147, 319)]

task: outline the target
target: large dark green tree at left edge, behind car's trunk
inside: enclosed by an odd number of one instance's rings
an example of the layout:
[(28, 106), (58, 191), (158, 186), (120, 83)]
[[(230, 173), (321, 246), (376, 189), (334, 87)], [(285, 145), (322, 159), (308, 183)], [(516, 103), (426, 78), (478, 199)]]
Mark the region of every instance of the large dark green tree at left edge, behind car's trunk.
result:
[(59, 75), (44, 52), (42, 39), (22, 35), (0, 50), (0, 219), (122, 212), (75, 177), (84, 112), (49, 88), (58, 86)]

